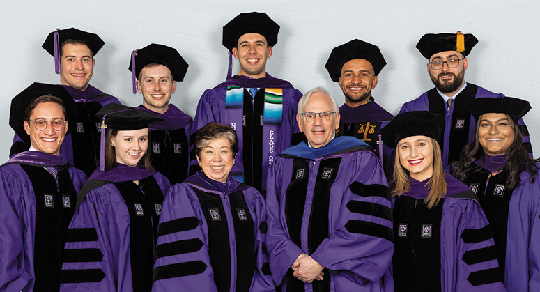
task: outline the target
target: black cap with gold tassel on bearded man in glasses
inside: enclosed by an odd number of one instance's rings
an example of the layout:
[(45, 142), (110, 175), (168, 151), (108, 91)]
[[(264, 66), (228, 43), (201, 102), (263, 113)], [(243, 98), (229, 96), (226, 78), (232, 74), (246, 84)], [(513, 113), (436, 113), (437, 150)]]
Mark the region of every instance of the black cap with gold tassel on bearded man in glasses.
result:
[(463, 34), (461, 31), (457, 33), (426, 33), (420, 38), (416, 48), (422, 56), (429, 60), (434, 54), (446, 51), (457, 51), (465, 57), (477, 43), (478, 39), (475, 36), (471, 33)]

